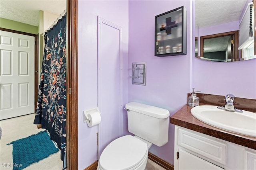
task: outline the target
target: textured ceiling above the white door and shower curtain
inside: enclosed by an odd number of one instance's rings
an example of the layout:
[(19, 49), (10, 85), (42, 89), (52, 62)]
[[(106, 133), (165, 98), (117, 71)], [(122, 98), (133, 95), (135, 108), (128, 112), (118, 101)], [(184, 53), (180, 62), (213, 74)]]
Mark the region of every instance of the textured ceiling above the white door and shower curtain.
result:
[(0, 17), (38, 26), (39, 10), (60, 15), (66, 0), (0, 0)]

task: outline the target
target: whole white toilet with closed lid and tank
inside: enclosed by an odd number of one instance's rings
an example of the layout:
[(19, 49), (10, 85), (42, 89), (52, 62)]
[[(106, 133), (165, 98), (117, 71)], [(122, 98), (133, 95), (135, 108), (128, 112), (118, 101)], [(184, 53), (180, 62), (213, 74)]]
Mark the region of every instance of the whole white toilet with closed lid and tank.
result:
[(98, 170), (144, 170), (152, 144), (161, 147), (168, 142), (169, 111), (136, 102), (125, 105), (128, 130), (103, 150)]

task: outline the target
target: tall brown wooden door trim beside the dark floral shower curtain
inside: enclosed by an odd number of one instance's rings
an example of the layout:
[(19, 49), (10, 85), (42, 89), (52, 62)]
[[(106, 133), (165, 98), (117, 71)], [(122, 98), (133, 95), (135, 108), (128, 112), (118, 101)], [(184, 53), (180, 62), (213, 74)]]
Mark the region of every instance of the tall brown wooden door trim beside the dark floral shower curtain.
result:
[(67, 169), (78, 169), (78, 0), (67, 0)]

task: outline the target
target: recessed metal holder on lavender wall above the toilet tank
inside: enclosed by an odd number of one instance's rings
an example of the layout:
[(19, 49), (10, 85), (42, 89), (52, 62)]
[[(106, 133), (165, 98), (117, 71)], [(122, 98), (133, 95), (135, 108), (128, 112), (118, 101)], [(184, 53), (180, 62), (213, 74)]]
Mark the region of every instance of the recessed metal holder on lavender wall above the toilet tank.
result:
[(132, 84), (146, 86), (146, 62), (132, 63)]

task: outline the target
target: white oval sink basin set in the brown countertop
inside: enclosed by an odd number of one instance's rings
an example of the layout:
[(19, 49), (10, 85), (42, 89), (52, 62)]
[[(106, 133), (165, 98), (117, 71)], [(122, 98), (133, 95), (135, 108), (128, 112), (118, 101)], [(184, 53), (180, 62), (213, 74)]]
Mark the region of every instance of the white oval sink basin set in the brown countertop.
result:
[(256, 113), (242, 113), (218, 109), (217, 106), (196, 106), (191, 109), (194, 117), (220, 129), (256, 137)]

